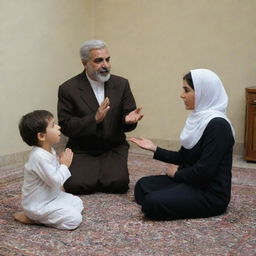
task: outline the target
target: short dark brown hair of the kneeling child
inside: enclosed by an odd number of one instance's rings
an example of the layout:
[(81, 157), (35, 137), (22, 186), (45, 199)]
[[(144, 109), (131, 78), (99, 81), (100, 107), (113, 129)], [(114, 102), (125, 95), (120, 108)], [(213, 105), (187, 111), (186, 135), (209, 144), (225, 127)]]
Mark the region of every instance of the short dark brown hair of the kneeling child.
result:
[(38, 146), (37, 134), (46, 132), (53, 114), (47, 110), (35, 110), (24, 115), (19, 122), (20, 135), (29, 146)]

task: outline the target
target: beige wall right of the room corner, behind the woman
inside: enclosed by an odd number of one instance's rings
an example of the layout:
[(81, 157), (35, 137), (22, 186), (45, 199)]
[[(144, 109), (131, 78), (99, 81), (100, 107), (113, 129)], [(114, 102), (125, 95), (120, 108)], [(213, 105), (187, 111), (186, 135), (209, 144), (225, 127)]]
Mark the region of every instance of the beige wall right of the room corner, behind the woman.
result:
[(191, 69), (215, 71), (229, 95), (236, 142), (244, 141), (245, 88), (256, 85), (255, 0), (102, 0), (96, 37), (110, 48), (145, 117), (130, 135), (179, 140), (188, 112), (179, 98)]

